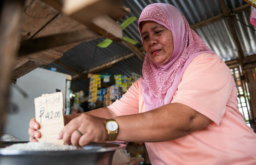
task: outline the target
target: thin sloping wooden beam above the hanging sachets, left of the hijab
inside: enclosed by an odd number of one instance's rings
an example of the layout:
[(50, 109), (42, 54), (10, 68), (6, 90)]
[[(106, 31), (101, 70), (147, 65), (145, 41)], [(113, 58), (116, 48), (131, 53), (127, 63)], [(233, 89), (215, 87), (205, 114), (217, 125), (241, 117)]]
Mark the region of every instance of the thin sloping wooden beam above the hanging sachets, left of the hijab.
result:
[(105, 64), (99, 65), (97, 67), (91, 68), (89, 70), (84, 70), (81, 74), (77, 74), (77, 75), (72, 76), (72, 81), (74, 81), (76, 79), (79, 79), (79, 78), (81, 78), (81, 76), (86, 75), (88, 73), (99, 71), (99, 70), (102, 70), (102, 69), (104, 69), (104, 68), (106, 68), (108, 66), (112, 66), (113, 64), (115, 64), (115, 63), (117, 63), (119, 61), (123, 61), (123, 60), (125, 60), (127, 58), (130, 58), (130, 57), (134, 56), (134, 55), (135, 55), (134, 53), (130, 53), (130, 54), (124, 55), (123, 57), (117, 58), (117, 59), (115, 59), (113, 61), (110, 61), (110, 62), (107, 62)]

